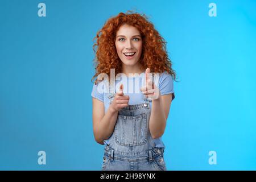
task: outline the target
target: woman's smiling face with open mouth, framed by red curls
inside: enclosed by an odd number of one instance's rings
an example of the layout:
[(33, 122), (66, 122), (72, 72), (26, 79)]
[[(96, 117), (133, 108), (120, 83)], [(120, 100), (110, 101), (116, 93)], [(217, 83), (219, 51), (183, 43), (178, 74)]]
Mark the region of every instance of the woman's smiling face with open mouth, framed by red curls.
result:
[(142, 52), (142, 38), (138, 29), (127, 24), (119, 27), (115, 36), (115, 47), (123, 64), (137, 64)]

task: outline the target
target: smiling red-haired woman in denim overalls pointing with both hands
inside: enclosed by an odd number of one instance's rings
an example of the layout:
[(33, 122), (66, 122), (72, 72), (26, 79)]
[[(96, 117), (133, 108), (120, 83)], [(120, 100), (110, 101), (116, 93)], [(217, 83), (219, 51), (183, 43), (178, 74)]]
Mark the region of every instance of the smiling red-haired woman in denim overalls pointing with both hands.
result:
[[(96, 40), (93, 133), (105, 144), (102, 170), (166, 170), (161, 136), (176, 79), (166, 42), (146, 16), (130, 12), (110, 18)], [(113, 69), (102, 91), (99, 76)]]

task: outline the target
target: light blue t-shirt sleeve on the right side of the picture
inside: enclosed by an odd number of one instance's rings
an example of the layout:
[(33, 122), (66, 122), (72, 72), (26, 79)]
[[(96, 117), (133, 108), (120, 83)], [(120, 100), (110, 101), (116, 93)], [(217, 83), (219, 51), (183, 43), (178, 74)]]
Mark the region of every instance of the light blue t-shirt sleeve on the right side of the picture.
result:
[(172, 79), (172, 76), (167, 72), (164, 72), (159, 78), (159, 90), (161, 95), (172, 93), (172, 100), (174, 100), (174, 81)]

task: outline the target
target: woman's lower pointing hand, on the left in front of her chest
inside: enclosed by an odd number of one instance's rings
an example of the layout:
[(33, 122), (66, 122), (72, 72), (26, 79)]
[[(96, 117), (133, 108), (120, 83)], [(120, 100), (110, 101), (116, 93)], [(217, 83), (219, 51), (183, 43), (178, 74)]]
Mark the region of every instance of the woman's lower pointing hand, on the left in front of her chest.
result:
[(119, 91), (115, 94), (112, 104), (109, 107), (114, 111), (119, 111), (123, 107), (128, 106), (129, 99), (129, 96), (123, 94), (123, 84), (121, 84)]

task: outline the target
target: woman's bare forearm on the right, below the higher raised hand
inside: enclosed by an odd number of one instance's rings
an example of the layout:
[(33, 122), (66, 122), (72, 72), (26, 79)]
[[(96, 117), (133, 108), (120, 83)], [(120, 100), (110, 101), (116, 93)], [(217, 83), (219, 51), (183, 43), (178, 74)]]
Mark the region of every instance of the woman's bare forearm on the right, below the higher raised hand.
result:
[(160, 94), (158, 99), (152, 100), (149, 128), (154, 139), (161, 137), (166, 128), (166, 115), (164, 114), (163, 101)]

